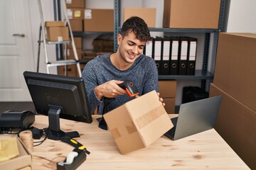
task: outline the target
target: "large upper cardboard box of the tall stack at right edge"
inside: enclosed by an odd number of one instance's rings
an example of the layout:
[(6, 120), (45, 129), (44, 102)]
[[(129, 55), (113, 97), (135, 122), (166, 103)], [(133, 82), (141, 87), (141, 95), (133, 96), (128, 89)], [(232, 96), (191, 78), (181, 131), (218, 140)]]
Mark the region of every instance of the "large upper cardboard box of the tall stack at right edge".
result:
[(256, 34), (220, 33), (213, 84), (256, 112)]

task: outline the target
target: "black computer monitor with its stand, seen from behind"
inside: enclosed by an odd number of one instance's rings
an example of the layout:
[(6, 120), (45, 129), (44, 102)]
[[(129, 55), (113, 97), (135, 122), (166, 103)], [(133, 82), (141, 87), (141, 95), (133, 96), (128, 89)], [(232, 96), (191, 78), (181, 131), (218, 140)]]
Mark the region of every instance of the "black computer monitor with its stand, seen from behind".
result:
[(23, 72), (36, 112), (48, 115), (48, 139), (80, 137), (78, 132), (60, 130), (60, 118), (92, 123), (85, 84), (80, 77)]

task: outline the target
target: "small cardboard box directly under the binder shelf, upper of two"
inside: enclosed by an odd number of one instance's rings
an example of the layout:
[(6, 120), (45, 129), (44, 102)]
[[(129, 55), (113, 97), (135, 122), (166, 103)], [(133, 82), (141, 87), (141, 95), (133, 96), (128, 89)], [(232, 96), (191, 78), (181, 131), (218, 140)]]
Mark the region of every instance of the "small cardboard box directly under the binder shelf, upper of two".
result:
[(176, 80), (159, 80), (161, 98), (176, 98)]

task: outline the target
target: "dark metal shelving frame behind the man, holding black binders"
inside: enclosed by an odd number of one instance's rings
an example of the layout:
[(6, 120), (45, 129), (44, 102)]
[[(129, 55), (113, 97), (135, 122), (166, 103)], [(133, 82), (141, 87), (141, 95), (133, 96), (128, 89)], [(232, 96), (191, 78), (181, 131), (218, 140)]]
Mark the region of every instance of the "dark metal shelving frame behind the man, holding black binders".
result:
[[(151, 32), (163, 32), (163, 33), (203, 33), (205, 34), (204, 52), (203, 52), (203, 66), (201, 70), (196, 70), (195, 75), (159, 75), (159, 80), (171, 80), (171, 79), (201, 79), (201, 87), (206, 89), (206, 80), (212, 80), (214, 74), (208, 72), (208, 56), (210, 47), (210, 34), (223, 32), (224, 30), (224, 18), (225, 18), (225, 4), (226, 0), (220, 2), (220, 18), (218, 29), (183, 29), (183, 28), (149, 28)], [(120, 27), (120, 0), (114, 0), (114, 50), (117, 50), (117, 34)], [(218, 38), (217, 38), (218, 39)], [(217, 51), (217, 48), (215, 49)]]

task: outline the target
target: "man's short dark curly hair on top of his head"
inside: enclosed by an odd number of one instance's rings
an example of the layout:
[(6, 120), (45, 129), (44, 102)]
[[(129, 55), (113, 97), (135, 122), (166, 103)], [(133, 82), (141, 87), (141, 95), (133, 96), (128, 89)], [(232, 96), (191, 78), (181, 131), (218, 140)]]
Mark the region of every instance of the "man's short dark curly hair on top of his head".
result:
[(131, 31), (140, 41), (146, 42), (150, 38), (148, 26), (146, 25), (145, 21), (138, 16), (132, 16), (131, 18), (128, 18), (127, 21), (125, 21), (122, 25), (120, 34), (122, 35), (122, 38), (124, 38)]

